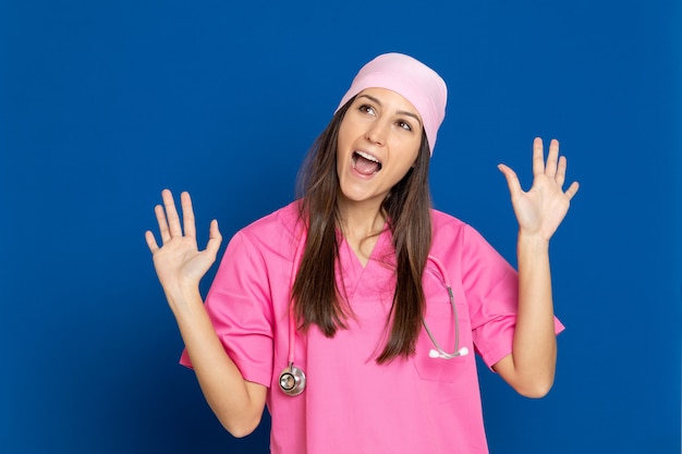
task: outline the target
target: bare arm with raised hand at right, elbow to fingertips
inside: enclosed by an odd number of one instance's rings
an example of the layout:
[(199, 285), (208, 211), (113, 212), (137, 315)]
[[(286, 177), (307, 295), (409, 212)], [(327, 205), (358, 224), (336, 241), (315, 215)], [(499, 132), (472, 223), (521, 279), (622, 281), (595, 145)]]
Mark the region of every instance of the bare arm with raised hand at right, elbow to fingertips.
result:
[(533, 186), (523, 192), (516, 174), (500, 164), (519, 221), (519, 314), (512, 353), (494, 369), (520, 394), (541, 397), (553, 383), (557, 364), (549, 268), (549, 240), (565, 217), (577, 183), (563, 192), (567, 160), (551, 140), (547, 162), (543, 142), (533, 143)]

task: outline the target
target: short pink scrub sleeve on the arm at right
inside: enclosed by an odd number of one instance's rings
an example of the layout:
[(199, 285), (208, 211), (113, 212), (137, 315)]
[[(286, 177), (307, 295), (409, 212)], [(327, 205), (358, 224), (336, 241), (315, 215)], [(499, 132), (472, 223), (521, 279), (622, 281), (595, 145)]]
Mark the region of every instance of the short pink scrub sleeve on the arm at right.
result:
[[(467, 226), (462, 238), (462, 286), (470, 306), (476, 351), (489, 368), (512, 353), (519, 308), (516, 270)], [(564, 327), (555, 317), (555, 332)]]

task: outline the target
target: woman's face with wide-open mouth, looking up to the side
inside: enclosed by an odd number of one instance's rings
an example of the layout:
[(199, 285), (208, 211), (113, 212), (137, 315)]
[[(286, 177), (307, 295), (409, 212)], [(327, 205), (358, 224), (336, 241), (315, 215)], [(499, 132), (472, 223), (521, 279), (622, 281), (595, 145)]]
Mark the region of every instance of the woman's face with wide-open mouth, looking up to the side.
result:
[(401, 95), (386, 88), (361, 91), (339, 130), (340, 203), (378, 209), (417, 159), (422, 134), (422, 116)]

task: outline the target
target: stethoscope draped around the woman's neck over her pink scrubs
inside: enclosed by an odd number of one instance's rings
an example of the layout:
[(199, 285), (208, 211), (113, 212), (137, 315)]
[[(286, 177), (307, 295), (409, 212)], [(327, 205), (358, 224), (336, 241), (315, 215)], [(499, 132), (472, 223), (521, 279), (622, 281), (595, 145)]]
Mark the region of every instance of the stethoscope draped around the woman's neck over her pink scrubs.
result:
[[(302, 243), (305, 243), (305, 242), (302, 241)], [(300, 255), (301, 255), (301, 246), (296, 248), (296, 254), (295, 254), (294, 261), (293, 261), (294, 266), (296, 266), (296, 263), (299, 262)], [(436, 265), (436, 268), (438, 269), (438, 272), (440, 273), (440, 277), (442, 278), (441, 284), (448, 291), (450, 306), (452, 307), (452, 318), (454, 319), (454, 349), (452, 353), (448, 353), (440, 346), (438, 341), (436, 341), (436, 338), (434, 336), (434, 333), (431, 332), (431, 330), (428, 328), (426, 320), (422, 318), (422, 324), (424, 326), (424, 329), (426, 330), (426, 334), (428, 334), (428, 338), (430, 339), (435, 347), (428, 352), (428, 356), (431, 358), (440, 358), (440, 359), (452, 359), (452, 358), (456, 358), (458, 356), (466, 356), (468, 355), (468, 348), (466, 348), (465, 346), (460, 347), (460, 319), (458, 317), (458, 309), (454, 304), (454, 294), (452, 292), (452, 287), (450, 286), (448, 274), (446, 273), (443, 265), (436, 257), (429, 255), (427, 257), (427, 260), (430, 260)], [(295, 273), (292, 272), (292, 283), (290, 285), (290, 289), (293, 286), (294, 279), (295, 279)], [(291, 395), (291, 396), (299, 395), (303, 392), (303, 390), (305, 390), (305, 372), (303, 371), (303, 369), (294, 366), (295, 335), (296, 335), (296, 324), (294, 320), (293, 310), (291, 310), (290, 308), (289, 310), (289, 358), (288, 358), (288, 366), (284, 368), (284, 370), (282, 370), (282, 373), (280, 373), (279, 376), (279, 386), (284, 394)]]

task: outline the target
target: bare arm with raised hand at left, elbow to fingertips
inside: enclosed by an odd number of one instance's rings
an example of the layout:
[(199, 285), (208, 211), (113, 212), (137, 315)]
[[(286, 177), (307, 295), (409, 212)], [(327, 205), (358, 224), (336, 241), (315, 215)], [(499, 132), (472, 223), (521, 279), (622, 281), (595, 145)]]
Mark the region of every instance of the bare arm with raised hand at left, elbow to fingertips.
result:
[(244, 380), (224, 352), (204, 308), (199, 281), (215, 262), (220, 247), (218, 223), (211, 222), (206, 249), (199, 251), (190, 195), (181, 195), (184, 235), (170, 191), (163, 191), (162, 197), (165, 207), (155, 207), (162, 247), (151, 232), (145, 234), (157, 275), (206, 401), (230, 433), (244, 437), (260, 422), (267, 389)]

